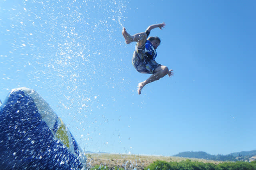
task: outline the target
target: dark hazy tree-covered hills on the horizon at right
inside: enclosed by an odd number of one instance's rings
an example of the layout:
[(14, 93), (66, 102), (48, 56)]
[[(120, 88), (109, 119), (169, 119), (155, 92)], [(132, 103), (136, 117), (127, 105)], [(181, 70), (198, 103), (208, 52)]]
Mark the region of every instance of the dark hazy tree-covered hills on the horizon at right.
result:
[(180, 152), (179, 154), (173, 155), (178, 157), (185, 158), (199, 158), (199, 159), (207, 159), (207, 160), (219, 160), (219, 161), (249, 161), (252, 160), (251, 157), (256, 156), (256, 150), (252, 151), (242, 151), (242, 152), (234, 152), (228, 155), (211, 155), (206, 152)]

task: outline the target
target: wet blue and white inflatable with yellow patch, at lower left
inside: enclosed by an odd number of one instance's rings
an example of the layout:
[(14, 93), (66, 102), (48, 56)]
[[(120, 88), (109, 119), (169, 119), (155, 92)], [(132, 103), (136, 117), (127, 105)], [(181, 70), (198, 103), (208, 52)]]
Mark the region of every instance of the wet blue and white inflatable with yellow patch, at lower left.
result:
[(86, 156), (32, 89), (13, 89), (0, 107), (0, 169), (82, 170)]

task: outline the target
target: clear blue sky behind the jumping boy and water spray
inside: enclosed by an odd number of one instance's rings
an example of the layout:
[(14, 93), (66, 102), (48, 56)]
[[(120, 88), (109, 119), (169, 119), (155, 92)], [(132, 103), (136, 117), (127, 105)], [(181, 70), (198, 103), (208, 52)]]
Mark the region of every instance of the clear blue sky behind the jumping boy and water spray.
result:
[[(35, 89), (92, 152), (171, 156), (256, 149), (254, 0), (0, 0), (0, 99)], [(150, 83), (131, 64), (130, 34), (151, 24)]]

